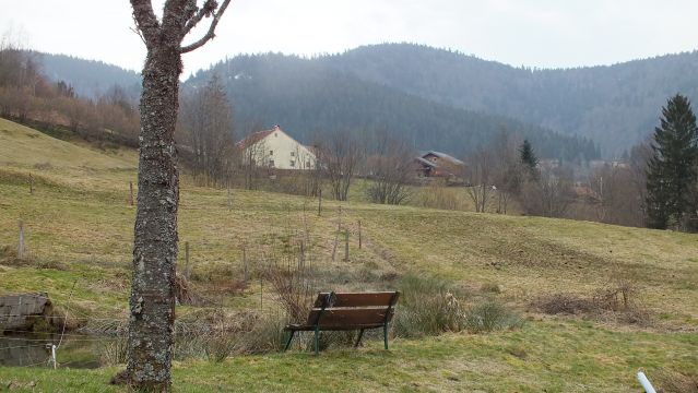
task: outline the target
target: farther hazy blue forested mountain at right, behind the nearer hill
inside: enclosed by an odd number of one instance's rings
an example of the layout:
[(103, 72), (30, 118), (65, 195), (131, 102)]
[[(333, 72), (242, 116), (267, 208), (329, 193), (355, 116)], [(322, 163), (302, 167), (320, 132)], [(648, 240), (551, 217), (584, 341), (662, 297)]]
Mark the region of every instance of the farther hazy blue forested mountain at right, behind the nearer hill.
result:
[(604, 155), (618, 155), (651, 133), (670, 96), (698, 103), (696, 51), (565, 70), (512, 68), (411, 44), (366, 46), (323, 60), (441, 104), (591, 138)]

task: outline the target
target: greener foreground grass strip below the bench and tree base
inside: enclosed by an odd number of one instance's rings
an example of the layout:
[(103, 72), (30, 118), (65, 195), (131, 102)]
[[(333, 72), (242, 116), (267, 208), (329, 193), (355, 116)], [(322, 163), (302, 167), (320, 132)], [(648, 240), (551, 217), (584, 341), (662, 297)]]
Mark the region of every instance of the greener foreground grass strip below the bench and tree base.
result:
[[(242, 356), (222, 364), (176, 362), (178, 392), (637, 392), (635, 373), (695, 371), (698, 336), (615, 332), (589, 323), (534, 321), (482, 335), (445, 334), (358, 350)], [(693, 350), (690, 350), (693, 349)], [(118, 368), (4, 369), (0, 385), (43, 391), (123, 391), (107, 385)], [(31, 389), (26, 389), (29, 391)]]

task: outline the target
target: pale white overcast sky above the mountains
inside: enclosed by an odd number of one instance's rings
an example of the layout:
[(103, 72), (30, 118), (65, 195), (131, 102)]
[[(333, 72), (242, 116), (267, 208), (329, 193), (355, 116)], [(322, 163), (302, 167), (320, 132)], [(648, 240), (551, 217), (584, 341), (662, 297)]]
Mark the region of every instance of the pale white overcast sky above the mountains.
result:
[[(0, 0), (0, 9), (1, 32), (29, 48), (141, 69), (127, 0)], [(386, 41), (512, 66), (610, 64), (694, 50), (697, 15), (696, 0), (233, 0), (217, 37), (185, 56), (182, 76), (240, 52), (312, 56)]]

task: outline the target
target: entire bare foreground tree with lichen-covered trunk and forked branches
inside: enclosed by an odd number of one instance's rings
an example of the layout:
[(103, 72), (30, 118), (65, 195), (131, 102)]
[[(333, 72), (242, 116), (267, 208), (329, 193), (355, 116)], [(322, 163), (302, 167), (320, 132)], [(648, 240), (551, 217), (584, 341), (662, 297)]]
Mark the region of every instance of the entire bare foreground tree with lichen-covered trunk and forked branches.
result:
[[(181, 55), (214, 36), (229, 4), (205, 0), (165, 1), (162, 19), (151, 0), (131, 0), (137, 32), (147, 55), (141, 93), (138, 210), (133, 240), (133, 279), (129, 299), (128, 379), (138, 390), (169, 390), (174, 347), (175, 267), (179, 171), (175, 126)], [(182, 46), (199, 22), (211, 17), (203, 37)]]

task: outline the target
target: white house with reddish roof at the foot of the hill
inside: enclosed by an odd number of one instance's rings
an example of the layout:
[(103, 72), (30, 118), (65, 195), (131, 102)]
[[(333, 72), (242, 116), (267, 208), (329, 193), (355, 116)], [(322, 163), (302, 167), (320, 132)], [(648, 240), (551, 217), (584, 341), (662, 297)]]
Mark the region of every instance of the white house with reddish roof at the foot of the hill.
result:
[(291, 138), (279, 126), (239, 141), (237, 147), (257, 166), (277, 169), (312, 169), (316, 156), (309, 147)]

